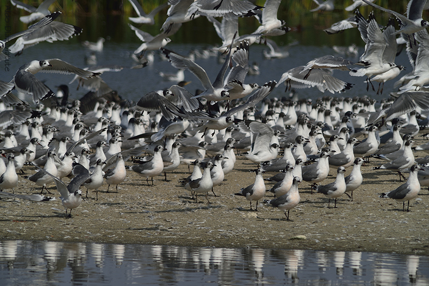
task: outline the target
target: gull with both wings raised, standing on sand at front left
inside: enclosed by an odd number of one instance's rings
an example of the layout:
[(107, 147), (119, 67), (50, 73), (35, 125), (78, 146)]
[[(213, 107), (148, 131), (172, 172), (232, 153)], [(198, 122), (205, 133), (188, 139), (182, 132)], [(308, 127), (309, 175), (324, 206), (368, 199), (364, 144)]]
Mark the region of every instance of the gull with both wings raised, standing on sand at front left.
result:
[[(34, 165), (36, 166), (36, 165)], [(79, 190), (80, 185), (86, 181), (89, 177), (89, 171), (81, 166), (78, 163), (75, 163), (73, 166), (73, 173), (75, 177), (70, 181), (68, 186), (64, 184), (59, 178), (50, 174), (46, 169), (42, 169), (38, 166), (39, 172), (43, 172), (55, 181), (58, 192), (61, 194), (61, 202), (65, 208), (65, 214), (67, 214), (67, 209), (70, 209), (68, 216), (71, 217), (71, 211), (79, 207), (80, 202), (82, 201), (82, 191)]]

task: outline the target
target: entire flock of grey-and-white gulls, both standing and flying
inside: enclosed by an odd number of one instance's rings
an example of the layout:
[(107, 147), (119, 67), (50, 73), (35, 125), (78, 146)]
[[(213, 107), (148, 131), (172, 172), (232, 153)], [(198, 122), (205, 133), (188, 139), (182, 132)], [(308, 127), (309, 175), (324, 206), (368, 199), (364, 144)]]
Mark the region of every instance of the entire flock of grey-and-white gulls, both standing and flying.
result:
[[(334, 10), (334, 0), (314, 1), (318, 7), (311, 11)], [(35, 8), (11, 0), (16, 9), (30, 13), (20, 20), (31, 25), (0, 41), (0, 60), (7, 61), (12, 54), (23, 53), (42, 41), (79, 35), (81, 28), (58, 21), (61, 13), (48, 10), (54, 2), (45, 0)], [(363, 181), (361, 166), (370, 157), (385, 161), (374, 169), (396, 171), (399, 180), (403, 172), (410, 173), (402, 185), (381, 194), (403, 202), (403, 211), (409, 211), (410, 200), (421, 186), (429, 185), (429, 156), (413, 155), (413, 151), (429, 150), (429, 144), (413, 146), (420, 126), (429, 120), (429, 86), (425, 86), (429, 83), (429, 23), (422, 19), (426, 0), (410, 0), (405, 15), (404, 11), (392, 11), (372, 1), (353, 0), (346, 10), (354, 15), (325, 31), (332, 34), (357, 28), (365, 42), (359, 61), (324, 55), (261, 85), (246, 83), (246, 75), (259, 72), (249, 64), (250, 46), (268, 45), (270, 50), (264, 53), (268, 59), (287, 56), (272, 41), (272, 37), (281, 37), (290, 30), (284, 20), (277, 18), (281, 0), (266, 0), (264, 6), (248, 0), (169, 0), (149, 14), (138, 0), (129, 2), (138, 15), (129, 20), (143, 30), (168, 7), (167, 18), (156, 36), (129, 24), (143, 41), (132, 55), (138, 63), (132, 68), (144, 68), (151, 62), (151, 52), (159, 51), (178, 70), (175, 75), (160, 75), (175, 84), (166, 90), (146, 90), (137, 103), (122, 100), (100, 75), (124, 67), (94, 66), (96, 53), (103, 50), (103, 38), (82, 43), (93, 51), (87, 59), (90, 67), (82, 69), (61, 59), (33, 60), (22, 65), (13, 78), (0, 81), (0, 152), (6, 159), (0, 160), (0, 196), (52, 200), (42, 192), (54, 182), (66, 214), (70, 209), (71, 216), (71, 210), (83, 199), (80, 188), (86, 189), (86, 196), (88, 190), (96, 190), (98, 199), (103, 184), (108, 185), (108, 192), (114, 185), (117, 192), (127, 172), (137, 173), (146, 180), (142, 184), (149, 186), (149, 179), (152, 184), (159, 175), (167, 180), (168, 172), (187, 164), (190, 169), (193, 166), (193, 171), (182, 181), (183, 188), (196, 201), (198, 194), (205, 194), (209, 202), (208, 194), (215, 194), (214, 187), (234, 172), (235, 151), (254, 164), (255, 173), (254, 183), (236, 195), (250, 201), (251, 209), (255, 201), (257, 210), (269, 191), (275, 198), (264, 201), (284, 211), (287, 220), (289, 211), (300, 202), (299, 184), (304, 181), (311, 184), (312, 191), (329, 198), (328, 207), (334, 199), (336, 208), (337, 198), (344, 194), (352, 200), (353, 191)], [(378, 23), (373, 13), (367, 18), (360, 13), (361, 5), (371, 5), (395, 18)], [(166, 47), (171, 42), (169, 36), (196, 17), (207, 17), (222, 39), (222, 45), (211, 51), (224, 58), (216, 79), (210, 79), (195, 62), (195, 54), (183, 56)], [(239, 17), (256, 17), (260, 25), (251, 34), (238, 35)], [(353, 85), (334, 77), (334, 70), (365, 77), (369, 93), (382, 93), (384, 83), (404, 69), (395, 64), (402, 50), (408, 54), (413, 70), (397, 80), (392, 96), (378, 108), (370, 96), (321, 96), (315, 101), (293, 95), (268, 98), (282, 83), (286, 91), (317, 88), (347, 94)], [(199, 79), (201, 90), (191, 93), (186, 89), (184, 71)], [(80, 100), (69, 101), (67, 85), (54, 92), (37, 79), (38, 72), (74, 74), (73, 81), (90, 91)], [(373, 82), (379, 83), (377, 90)], [(364, 140), (356, 139), (362, 136)], [(24, 164), (34, 165), (37, 172), (25, 178), (42, 187), (40, 195), (14, 193), (17, 174)], [(324, 184), (330, 168), (337, 170), (336, 179)], [(348, 169), (351, 172), (346, 176)], [(264, 179), (264, 173), (272, 177)], [(68, 184), (63, 181), (65, 177), (71, 179)], [(265, 181), (275, 184), (267, 188)], [(5, 192), (10, 189), (12, 193)]]

